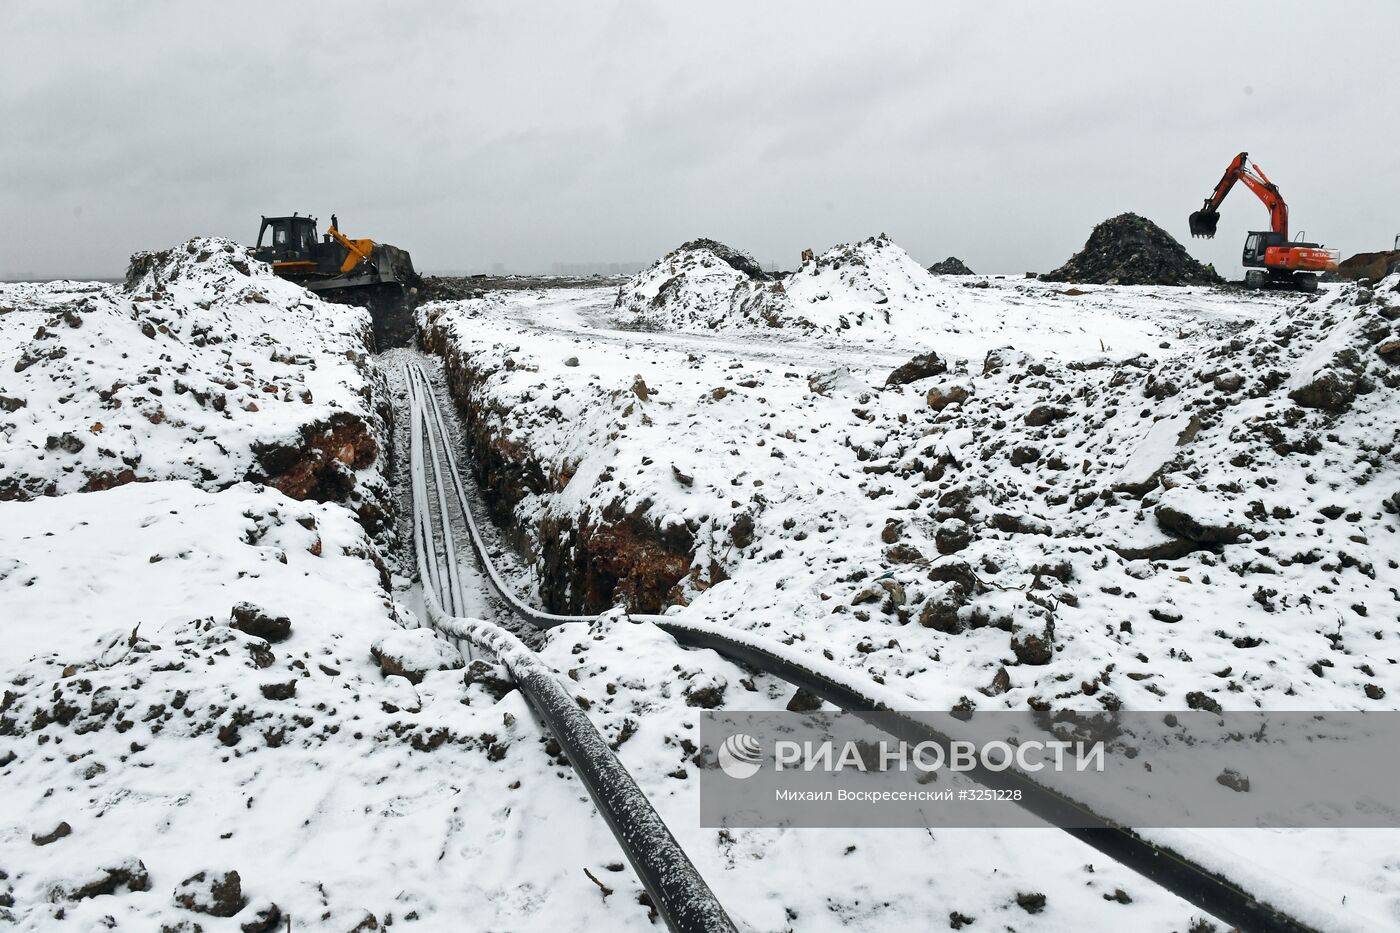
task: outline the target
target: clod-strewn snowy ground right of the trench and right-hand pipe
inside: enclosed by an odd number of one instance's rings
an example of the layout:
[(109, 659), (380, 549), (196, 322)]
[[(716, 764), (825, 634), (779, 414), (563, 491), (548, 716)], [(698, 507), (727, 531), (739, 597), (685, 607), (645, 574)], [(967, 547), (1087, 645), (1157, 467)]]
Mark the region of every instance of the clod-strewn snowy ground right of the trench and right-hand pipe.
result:
[[(515, 509), (526, 537), (609, 514), (672, 541), (683, 527), (675, 597), (694, 618), (927, 709), (1394, 709), (1400, 282), (1313, 300), (923, 282), (897, 248), (861, 247), (893, 256), (886, 294), (900, 270), (917, 291), (879, 304), (820, 263), (785, 294), (736, 289), (689, 255), (662, 261), (682, 276), (665, 290), (654, 269), (620, 297), (421, 315), (470, 370), (489, 433), (546, 478)], [(829, 314), (774, 325), (750, 314), (755, 287), (825, 289)], [(928, 352), (923, 377), (886, 385)], [(994, 862), (1011, 838), (962, 843)], [(1170, 838), (1221, 870), (1242, 859), (1238, 877), (1326, 929), (1400, 922), (1400, 834)], [(1107, 923), (1077, 929), (1126, 929)]]

